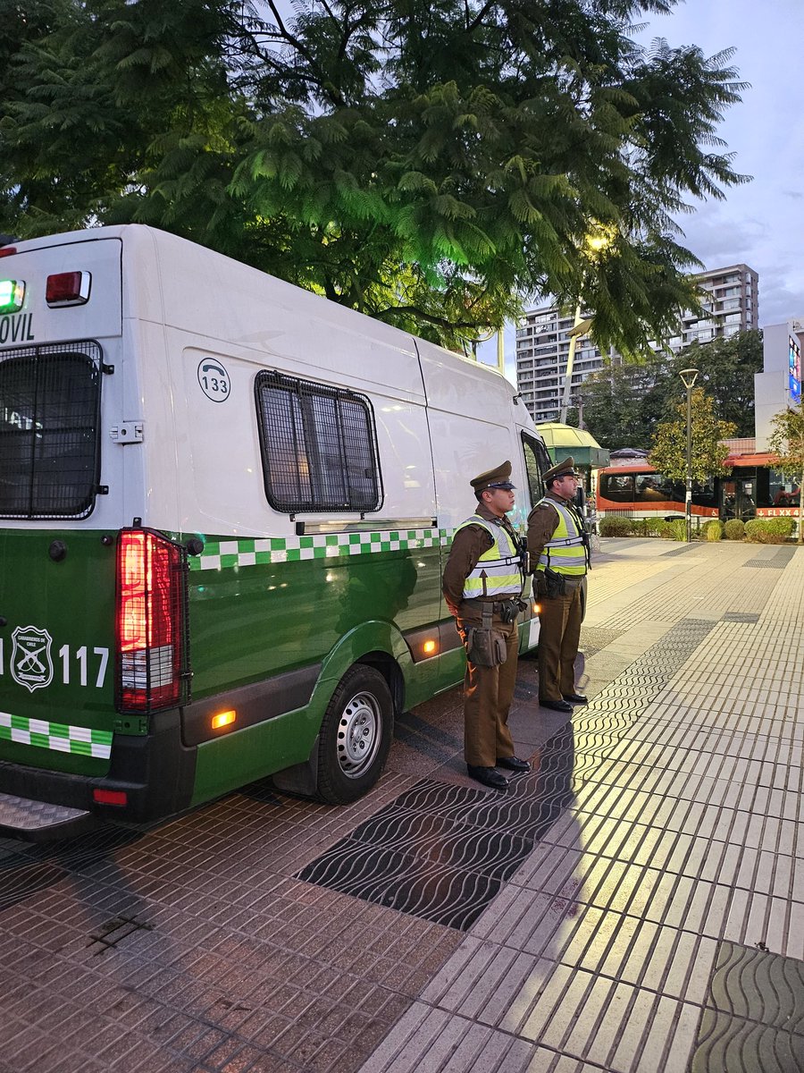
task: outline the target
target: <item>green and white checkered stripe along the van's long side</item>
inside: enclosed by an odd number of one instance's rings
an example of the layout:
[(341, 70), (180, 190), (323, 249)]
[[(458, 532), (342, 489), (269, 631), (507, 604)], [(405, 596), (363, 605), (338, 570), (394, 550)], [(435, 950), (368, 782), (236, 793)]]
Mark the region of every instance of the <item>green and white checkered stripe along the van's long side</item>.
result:
[(377, 552), (413, 552), (449, 543), (451, 529), (384, 529), (379, 532), (322, 533), (315, 536), (266, 536), (209, 541), (190, 557), (191, 570), (226, 570), (302, 559), (344, 558)]

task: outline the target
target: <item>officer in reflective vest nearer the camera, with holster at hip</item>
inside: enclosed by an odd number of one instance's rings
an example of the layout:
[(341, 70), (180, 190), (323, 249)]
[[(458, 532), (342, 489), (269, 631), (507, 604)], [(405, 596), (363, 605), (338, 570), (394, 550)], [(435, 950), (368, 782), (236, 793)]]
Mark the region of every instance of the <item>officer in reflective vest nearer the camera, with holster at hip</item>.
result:
[(517, 534), (506, 517), (515, 499), (510, 475), (511, 464), (505, 461), (471, 482), (477, 511), (456, 529), (443, 579), (447, 606), (464, 646), (473, 640), (473, 630), (491, 630), (504, 638), (504, 662), (496, 665), (487, 665), (487, 653), (479, 647), (467, 650), (463, 686), (466, 770), (471, 778), (494, 790), (508, 787), (497, 767), (526, 771), (530, 766), (513, 755), (508, 730), (519, 652), (516, 619), (522, 592)]

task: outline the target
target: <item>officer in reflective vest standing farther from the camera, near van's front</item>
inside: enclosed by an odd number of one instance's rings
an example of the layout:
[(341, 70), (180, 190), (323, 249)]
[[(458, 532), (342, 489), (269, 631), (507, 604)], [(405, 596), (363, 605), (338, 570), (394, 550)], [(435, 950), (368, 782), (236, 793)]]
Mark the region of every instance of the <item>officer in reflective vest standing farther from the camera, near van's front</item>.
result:
[(544, 475), (547, 495), (527, 518), (527, 550), (535, 572), (539, 619), (539, 704), (571, 711), (586, 704), (576, 692), (575, 658), (581, 637), (581, 585), (590, 558), (583, 519), (575, 506), (579, 473), (565, 458)]

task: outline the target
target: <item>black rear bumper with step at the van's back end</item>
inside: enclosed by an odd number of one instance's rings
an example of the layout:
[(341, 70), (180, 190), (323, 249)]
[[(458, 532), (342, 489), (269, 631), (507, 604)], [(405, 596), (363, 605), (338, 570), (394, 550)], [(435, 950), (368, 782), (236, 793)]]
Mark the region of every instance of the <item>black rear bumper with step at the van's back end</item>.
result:
[[(0, 762), (0, 795), (16, 799), (0, 807), (0, 831), (28, 839), (62, 838), (99, 820), (145, 823), (180, 812), (192, 798), (195, 755), (193, 746), (181, 743), (175, 710), (152, 716), (145, 736), (115, 734), (109, 771), (102, 779)], [(124, 793), (125, 805), (99, 805), (95, 790)], [(44, 817), (50, 806), (69, 810), (63, 822), (31, 823), (32, 813)]]

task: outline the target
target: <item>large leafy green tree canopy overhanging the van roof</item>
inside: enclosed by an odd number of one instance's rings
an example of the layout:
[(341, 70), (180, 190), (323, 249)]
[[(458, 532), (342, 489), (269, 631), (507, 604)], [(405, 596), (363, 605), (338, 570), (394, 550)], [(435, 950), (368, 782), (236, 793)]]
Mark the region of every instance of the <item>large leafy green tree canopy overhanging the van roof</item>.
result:
[(744, 178), (730, 53), (631, 36), (673, 2), (0, 0), (0, 230), (151, 223), (452, 344), (549, 292), (637, 351), (695, 306), (672, 215)]

